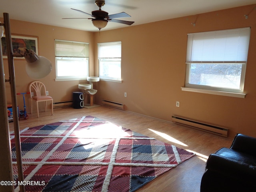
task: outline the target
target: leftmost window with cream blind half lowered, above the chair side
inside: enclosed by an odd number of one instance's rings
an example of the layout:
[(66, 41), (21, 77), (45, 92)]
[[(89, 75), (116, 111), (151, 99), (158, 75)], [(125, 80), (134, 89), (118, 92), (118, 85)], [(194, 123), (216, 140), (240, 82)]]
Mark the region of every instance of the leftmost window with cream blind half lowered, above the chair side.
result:
[(89, 44), (55, 40), (56, 80), (86, 79), (89, 71)]

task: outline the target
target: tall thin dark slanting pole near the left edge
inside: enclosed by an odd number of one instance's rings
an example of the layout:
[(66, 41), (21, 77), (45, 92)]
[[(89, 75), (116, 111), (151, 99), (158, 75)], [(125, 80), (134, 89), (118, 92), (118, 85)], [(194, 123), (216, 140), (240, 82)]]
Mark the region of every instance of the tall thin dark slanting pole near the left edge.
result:
[[(16, 100), (16, 85), (15, 85), (15, 72), (14, 72), (14, 61), (13, 61), (13, 52), (12, 52), (12, 38), (10, 32), (10, 20), (9, 14), (4, 13), (4, 28), (5, 28), (5, 37), (6, 37), (6, 50), (8, 57), (8, 67), (10, 75), (10, 88), (12, 96), (12, 112), (13, 112), (13, 122), (14, 122), (14, 135), (15, 135), (15, 146), (16, 146), (16, 159), (18, 166), (18, 179), (20, 182), (24, 180), (23, 170), (22, 170), (22, 159), (21, 159), (21, 146), (20, 146), (20, 127), (18, 119), (18, 109), (17, 109), (17, 100)], [(20, 192), (25, 192), (25, 186), (20, 185)]]

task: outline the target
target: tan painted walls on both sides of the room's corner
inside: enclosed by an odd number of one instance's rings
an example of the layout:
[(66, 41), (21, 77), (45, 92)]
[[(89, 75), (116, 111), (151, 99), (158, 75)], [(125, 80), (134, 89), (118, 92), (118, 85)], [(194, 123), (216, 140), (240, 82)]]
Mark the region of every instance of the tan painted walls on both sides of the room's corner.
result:
[[(108, 99), (126, 105), (126, 110), (171, 121), (172, 115), (215, 124), (230, 129), (229, 137), (238, 132), (256, 137), (256, 4), (194, 16), (175, 18), (116, 30), (85, 32), (11, 20), (12, 34), (38, 36), (39, 55), (48, 58), (53, 70), (46, 84), (54, 102), (72, 100), (79, 83), (55, 82), (54, 39), (90, 43), (90, 76), (98, 76), (97, 43), (122, 41), (122, 83), (100, 81), (95, 102)], [(250, 14), (249, 14), (250, 13)], [(248, 19), (245, 19), (249, 14)], [(3, 22), (1, 20), (1, 22)], [(194, 27), (191, 23), (196, 23)], [(233, 98), (184, 92), (187, 34), (230, 28), (251, 27), (250, 47), (244, 91), (246, 98)], [(7, 61), (4, 61), (8, 78)], [(26, 75), (25, 62), (15, 60), (16, 91), (25, 92), (33, 80)], [(9, 85), (6, 83), (10, 101)], [(127, 97), (124, 97), (127, 92)], [(180, 107), (176, 107), (176, 101)], [(23, 106), (22, 98), (18, 104)], [(27, 100), (27, 105), (29, 102)]]

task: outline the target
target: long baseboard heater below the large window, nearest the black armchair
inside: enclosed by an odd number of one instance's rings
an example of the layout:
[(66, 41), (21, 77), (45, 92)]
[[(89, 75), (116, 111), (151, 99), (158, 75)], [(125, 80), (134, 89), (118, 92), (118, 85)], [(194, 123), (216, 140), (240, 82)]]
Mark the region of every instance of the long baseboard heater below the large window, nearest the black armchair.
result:
[(184, 126), (188, 126), (191, 128), (195, 128), (198, 130), (210, 132), (212, 134), (217, 134), (220, 136), (228, 137), (228, 129), (222, 128), (214, 125), (205, 124), (202, 122), (196, 122), (190, 119), (178, 117), (178, 116), (172, 116), (172, 122), (175, 122), (177, 124), (181, 124)]

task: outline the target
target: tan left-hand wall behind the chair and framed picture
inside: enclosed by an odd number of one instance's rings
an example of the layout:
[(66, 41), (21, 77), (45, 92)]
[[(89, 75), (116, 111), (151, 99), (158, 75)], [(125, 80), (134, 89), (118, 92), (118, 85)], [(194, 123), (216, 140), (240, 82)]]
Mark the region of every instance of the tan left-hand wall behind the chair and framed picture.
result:
[[(3, 20), (1, 20), (3, 22)], [(17, 20), (10, 20), (10, 28), (12, 34), (37, 36), (39, 55), (48, 58), (52, 62), (52, 72), (45, 78), (39, 79), (46, 86), (49, 95), (54, 98), (54, 102), (72, 100), (72, 92), (79, 91), (78, 84), (82, 81), (55, 81), (56, 67), (55, 67), (55, 51), (54, 39), (72, 40), (79, 42), (90, 43), (90, 75), (94, 74), (93, 63), (93, 36), (94, 33), (82, 30), (73, 30), (68, 28), (61, 28), (56, 26), (42, 25), (30, 22), (22, 22)], [(15, 77), (16, 77), (16, 92), (28, 92), (28, 84), (34, 81), (26, 74), (26, 61), (21, 59), (14, 59)], [(7, 60), (4, 60), (5, 78), (9, 78)], [(7, 102), (11, 103), (10, 98), (10, 84), (6, 83), (6, 97)], [(26, 106), (30, 111), (29, 95), (26, 95)], [(23, 109), (23, 97), (17, 96), (18, 105)], [(34, 106), (33, 106), (34, 108)], [(34, 108), (35, 109), (35, 108)], [(43, 108), (41, 108), (43, 109)]]

